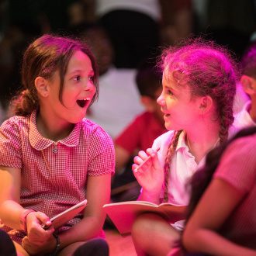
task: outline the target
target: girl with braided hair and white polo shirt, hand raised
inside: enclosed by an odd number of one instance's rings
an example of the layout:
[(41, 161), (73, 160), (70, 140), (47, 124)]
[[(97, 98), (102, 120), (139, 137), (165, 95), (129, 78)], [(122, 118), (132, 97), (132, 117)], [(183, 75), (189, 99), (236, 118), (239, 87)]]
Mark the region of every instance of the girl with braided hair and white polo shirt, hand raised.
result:
[[(227, 50), (201, 39), (164, 50), (160, 66), (163, 89), (157, 102), (169, 131), (134, 157), (133, 173), (142, 187), (139, 200), (186, 206), (186, 182), (209, 150), (236, 132), (237, 68)], [(137, 254), (168, 254), (182, 227), (182, 222), (170, 225), (155, 214), (140, 215), (132, 230)]]

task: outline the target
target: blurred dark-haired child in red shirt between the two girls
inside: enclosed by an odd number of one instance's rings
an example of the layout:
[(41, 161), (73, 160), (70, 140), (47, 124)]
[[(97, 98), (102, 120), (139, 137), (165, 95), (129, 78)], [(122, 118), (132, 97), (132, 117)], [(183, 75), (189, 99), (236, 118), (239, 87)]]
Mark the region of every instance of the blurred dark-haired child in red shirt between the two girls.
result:
[[(154, 59), (148, 59), (140, 64), (136, 74), (140, 101), (145, 112), (133, 119), (126, 129), (114, 141), (116, 150), (116, 176), (112, 182), (112, 199), (116, 192), (124, 192), (115, 201), (125, 201), (137, 198), (140, 188), (131, 171), (131, 160), (139, 150), (147, 150), (154, 139), (166, 132), (163, 113), (157, 104), (161, 94), (161, 71), (155, 66)], [(131, 183), (130, 183), (131, 182)], [(128, 185), (119, 190), (121, 185)]]

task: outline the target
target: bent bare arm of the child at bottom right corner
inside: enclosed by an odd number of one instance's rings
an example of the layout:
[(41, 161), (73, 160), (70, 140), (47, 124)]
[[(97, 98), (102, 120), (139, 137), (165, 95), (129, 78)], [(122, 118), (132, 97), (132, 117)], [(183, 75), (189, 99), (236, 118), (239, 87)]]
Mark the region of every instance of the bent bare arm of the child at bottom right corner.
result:
[(243, 196), (229, 183), (213, 179), (185, 227), (182, 237), (185, 248), (213, 255), (255, 256), (256, 251), (234, 244), (216, 232)]

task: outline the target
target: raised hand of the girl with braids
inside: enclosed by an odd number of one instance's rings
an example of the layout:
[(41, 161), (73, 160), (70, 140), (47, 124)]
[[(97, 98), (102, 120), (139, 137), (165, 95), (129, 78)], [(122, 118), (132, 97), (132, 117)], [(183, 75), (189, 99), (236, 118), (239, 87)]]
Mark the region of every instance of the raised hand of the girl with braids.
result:
[(164, 170), (159, 163), (157, 151), (152, 148), (148, 148), (147, 153), (140, 151), (133, 161), (133, 175), (144, 192), (159, 194), (164, 182)]

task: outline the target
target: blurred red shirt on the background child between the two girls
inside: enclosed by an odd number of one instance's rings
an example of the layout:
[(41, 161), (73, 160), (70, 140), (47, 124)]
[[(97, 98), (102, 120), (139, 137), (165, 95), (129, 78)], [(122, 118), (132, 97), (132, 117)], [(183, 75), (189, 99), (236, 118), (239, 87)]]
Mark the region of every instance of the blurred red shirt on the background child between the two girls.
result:
[(167, 130), (151, 112), (144, 112), (116, 138), (115, 143), (130, 154), (134, 150), (147, 150), (154, 140)]

